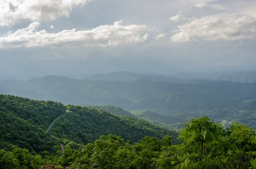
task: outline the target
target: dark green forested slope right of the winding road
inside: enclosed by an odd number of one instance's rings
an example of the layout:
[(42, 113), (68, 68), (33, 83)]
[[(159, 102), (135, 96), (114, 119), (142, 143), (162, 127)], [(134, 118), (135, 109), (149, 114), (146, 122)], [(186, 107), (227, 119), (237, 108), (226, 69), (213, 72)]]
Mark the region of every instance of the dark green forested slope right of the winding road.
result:
[[(164, 129), (144, 120), (132, 117), (112, 115), (106, 111), (67, 105), (71, 112), (60, 117), (52, 126), (50, 134), (55, 137), (73, 140), (76, 143), (93, 143), (101, 135), (114, 134), (125, 141), (134, 143), (146, 135), (161, 138), (172, 135), (177, 138), (177, 132)], [(174, 141), (176, 141), (174, 139)], [(177, 141), (176, 141), (177, 142)]]

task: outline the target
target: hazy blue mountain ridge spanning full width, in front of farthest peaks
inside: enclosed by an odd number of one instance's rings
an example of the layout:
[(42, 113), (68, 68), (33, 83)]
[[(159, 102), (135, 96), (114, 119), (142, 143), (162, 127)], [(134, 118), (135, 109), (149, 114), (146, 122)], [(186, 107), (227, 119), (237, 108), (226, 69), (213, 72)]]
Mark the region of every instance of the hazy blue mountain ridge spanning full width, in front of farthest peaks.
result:
[(197, 111), (236, 106), (242, 100), (256, 99), (256, 83), (207, 80), (179, 84), (151, 80), (111, 82), (47, 76), (28, 81), (1, 81), (0, 92), (80, 106)]

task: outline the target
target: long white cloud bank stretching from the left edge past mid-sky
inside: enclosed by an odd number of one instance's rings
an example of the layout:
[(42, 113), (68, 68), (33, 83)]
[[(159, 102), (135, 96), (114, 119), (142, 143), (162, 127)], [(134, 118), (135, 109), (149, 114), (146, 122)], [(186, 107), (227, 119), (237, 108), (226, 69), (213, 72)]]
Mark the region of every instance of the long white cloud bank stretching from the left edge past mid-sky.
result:
[(140, 43), (148, 39), (154, 29), (145, 25), (120, 25), (122, 20), (113, 25), (99, 26), (86, 31), (63, 30), (58, 33), (37, 31), (41, 23), (31, 23), (25, 29), (8, 32), (0, 36), (0, 48), (13, 47), (78, 47), (78, 46), (118, 46)]

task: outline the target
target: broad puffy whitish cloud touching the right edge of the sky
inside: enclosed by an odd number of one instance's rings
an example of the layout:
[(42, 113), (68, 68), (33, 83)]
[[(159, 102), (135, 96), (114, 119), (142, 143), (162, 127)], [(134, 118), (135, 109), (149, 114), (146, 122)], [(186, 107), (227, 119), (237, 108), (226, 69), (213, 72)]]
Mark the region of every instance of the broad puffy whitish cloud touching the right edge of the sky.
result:
[(177, 26), (179, 32), (171, 37), (175, 42), (190, 40), (239, 40), (256, 36), (256, 17), (237, 13), (216, 14), (194, 18)]

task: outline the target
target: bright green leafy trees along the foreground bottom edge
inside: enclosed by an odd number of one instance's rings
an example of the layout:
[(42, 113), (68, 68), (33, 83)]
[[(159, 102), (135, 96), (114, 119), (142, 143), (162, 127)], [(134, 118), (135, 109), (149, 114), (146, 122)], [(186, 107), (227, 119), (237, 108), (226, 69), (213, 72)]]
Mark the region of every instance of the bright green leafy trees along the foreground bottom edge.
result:
[(81, 149), (57, 155), (31, 155), (28, 150), (12, 147), (0, 150), (0, 168), (8, 169), (254, 169), (256, 168), (256, 133), (234, 123), (228, 128), (208, 117), (185, 124), (179, 138), (161, 140), (144, 137), (134, 144), (116, 135), (101, 136)]

